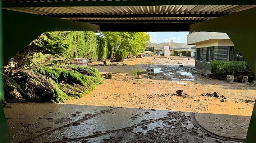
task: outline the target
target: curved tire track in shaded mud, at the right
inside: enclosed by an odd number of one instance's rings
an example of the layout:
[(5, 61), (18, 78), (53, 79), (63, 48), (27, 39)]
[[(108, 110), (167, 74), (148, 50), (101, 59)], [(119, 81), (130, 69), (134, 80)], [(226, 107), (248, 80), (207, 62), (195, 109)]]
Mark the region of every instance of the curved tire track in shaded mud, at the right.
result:
[(215, 133), (210, 132), (209, 130), (205, 129), (202, 125), (200, 125), (195, 117), (195, 113), (191, 112), (190, 113), (190, 118), (192, 119), (192, 122), (195, 126), (199, 127), (199, 129), (205, 133), (206, 137), (211, 137), (211, 138), (215, 138), (215, 139), (220, 139), (223, 141), (234, 141), (234, 142), (245, 142), (245, 139), (238, 139), (238, 138), (231, 138), (231, 137), (225, 137), (225, 136), (221, 136)]

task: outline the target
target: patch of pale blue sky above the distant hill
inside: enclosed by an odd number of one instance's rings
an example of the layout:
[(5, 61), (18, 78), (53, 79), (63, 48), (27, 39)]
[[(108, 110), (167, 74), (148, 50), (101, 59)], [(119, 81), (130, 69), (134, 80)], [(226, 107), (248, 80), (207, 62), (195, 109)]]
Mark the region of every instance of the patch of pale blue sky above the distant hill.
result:
[(148, 32), (151, 43), (162, 43), (173, 40), (177, 43), (187, 43), (188, 32)]

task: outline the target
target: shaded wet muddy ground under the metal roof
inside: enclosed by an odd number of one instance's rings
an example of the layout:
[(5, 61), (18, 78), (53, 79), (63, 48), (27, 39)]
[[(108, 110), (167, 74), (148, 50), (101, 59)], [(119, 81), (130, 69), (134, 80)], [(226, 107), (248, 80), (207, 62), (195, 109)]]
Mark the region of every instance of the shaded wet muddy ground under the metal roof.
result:
[(237, 143), (244, 142), (250, 122), (247, 116), (154, 109), (51, 103), (10, 107), (5, 112), (12, 141), (26, 143)]

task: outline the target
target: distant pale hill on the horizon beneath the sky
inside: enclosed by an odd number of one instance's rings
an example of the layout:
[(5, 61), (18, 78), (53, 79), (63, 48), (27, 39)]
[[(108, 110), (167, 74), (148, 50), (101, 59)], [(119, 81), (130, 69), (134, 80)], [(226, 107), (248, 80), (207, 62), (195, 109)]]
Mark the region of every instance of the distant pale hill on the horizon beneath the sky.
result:
[(147, 47), (155, 47), (155, 48), (164, 48), (164, 45), (169, 45), (172, 49), (191, 49), (192, 46), (195, 45), (187, 45), (187, 43), (169, 43), (169, 42), (163, 42), (163, 43), (149, 43)]

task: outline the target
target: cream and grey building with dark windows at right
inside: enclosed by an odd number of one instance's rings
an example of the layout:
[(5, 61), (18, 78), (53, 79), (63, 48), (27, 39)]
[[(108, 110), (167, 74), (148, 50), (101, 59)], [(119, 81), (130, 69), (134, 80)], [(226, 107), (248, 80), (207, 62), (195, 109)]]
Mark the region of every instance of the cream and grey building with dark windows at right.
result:
[(187, 44), (196, 45), (195, 67), (200, 69), (211, 70), (211, 61), (236, 60), (239, 56), (226, 33), (192, 32)]

